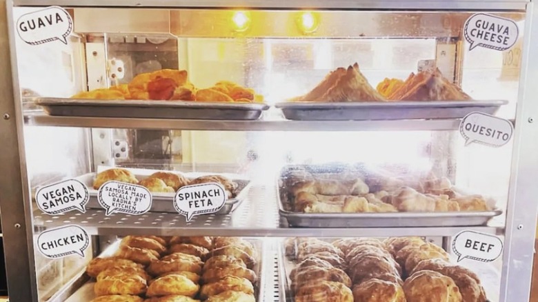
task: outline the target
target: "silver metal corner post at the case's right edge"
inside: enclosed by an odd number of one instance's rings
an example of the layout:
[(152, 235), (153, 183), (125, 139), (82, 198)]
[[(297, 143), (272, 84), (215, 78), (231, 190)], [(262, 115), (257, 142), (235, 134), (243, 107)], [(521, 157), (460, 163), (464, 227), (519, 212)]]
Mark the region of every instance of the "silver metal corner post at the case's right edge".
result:
[(501, 301), (528, 301), (538, 215), (538, 6), (528, 3), (517, 105)]

